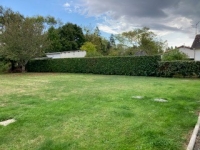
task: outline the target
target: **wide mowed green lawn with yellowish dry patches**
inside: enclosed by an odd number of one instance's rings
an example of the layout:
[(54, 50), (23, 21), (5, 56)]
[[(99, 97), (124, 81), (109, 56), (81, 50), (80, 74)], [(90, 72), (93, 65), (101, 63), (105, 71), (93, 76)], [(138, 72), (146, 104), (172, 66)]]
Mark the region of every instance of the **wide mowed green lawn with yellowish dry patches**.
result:
[(183, 150), (199, 88), (187, 78), (0, 75), (0, 121), (17, 120), (0, 126), (0, 150)]

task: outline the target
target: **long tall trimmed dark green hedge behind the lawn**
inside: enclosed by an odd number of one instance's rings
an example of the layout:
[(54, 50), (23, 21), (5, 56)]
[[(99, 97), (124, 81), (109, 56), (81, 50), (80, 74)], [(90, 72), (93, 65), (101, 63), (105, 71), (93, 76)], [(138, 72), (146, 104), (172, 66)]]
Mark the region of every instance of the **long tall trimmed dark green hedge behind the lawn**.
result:
[(33, 60), (28, 72), (69, 72), (155, 76), (160, 56), (98, 57)]

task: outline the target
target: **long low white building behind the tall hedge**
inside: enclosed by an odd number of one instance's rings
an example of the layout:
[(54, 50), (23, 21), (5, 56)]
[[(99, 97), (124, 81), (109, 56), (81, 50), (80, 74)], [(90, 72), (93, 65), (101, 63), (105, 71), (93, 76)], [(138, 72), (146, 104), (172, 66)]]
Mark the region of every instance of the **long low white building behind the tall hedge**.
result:
[(86, 51), (64, 51), (64, 52), (54, 52), (46, 53), (47, 58), (59, 59), (59, 58), (81, 58), (86, 56)]

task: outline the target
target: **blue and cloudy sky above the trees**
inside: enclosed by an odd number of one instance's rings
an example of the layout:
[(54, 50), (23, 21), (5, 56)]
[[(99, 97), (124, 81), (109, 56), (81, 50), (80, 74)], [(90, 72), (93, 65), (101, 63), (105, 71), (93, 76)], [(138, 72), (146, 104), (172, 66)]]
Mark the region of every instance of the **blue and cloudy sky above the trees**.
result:
[[(53, 16), (102, 36), (148, 27), (168, 46), (191, 46), (200, 34), (200, 0), (0, 0), (24, 16)], [(196, 30), (197, 29), (197, 30)]]

